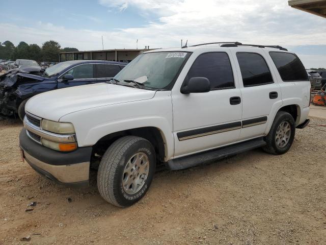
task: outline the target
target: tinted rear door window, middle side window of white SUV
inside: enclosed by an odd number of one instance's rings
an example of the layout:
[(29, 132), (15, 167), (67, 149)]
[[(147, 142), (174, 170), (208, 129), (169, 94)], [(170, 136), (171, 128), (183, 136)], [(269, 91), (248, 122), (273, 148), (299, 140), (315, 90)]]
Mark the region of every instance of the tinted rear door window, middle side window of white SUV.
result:
[(244, 87), (273, 83), (264, 58), (256, 53), (237, 53)]

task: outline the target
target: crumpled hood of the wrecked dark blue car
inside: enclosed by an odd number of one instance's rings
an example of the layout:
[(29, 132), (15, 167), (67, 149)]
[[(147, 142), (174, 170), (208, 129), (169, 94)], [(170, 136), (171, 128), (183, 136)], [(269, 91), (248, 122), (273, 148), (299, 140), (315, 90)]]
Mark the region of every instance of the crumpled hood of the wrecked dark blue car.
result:
[(45, 78), (39, 76), (43, 74), (44, 69), (38, 66), (25, 66), (22, 69), (11, 69), (8, 70), (5, 74), (0, 76), (0, 86), (2, 87), (12, 87), (17, 82), (35, 82), (43, 81)]

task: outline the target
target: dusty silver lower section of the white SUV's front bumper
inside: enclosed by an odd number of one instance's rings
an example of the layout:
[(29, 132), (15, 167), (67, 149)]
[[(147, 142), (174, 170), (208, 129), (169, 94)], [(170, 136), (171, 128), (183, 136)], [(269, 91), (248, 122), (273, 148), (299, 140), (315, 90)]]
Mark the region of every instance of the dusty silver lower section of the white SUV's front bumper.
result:
[(66, 165), (51, 165), (42, 162), (24, 151), (24, 159), (30, 165), (35, 165), (51, 174), (62, 183), (75, 183), (89, 180), (90, 162), (80, 162)]

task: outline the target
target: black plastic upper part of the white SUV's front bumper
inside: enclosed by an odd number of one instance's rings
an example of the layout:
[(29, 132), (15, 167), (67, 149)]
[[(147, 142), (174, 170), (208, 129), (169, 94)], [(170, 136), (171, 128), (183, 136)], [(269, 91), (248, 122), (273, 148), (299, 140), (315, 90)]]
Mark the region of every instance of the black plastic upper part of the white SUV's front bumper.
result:
[(26, 129), (19, 134), (21, 149), (36, 159), (51, 165), (67, 165), (80, 162), (89, 162), (92, 155), (92, 146), (79, 147), (73, 152), (58, 152), (46, 148), (29, 138)]

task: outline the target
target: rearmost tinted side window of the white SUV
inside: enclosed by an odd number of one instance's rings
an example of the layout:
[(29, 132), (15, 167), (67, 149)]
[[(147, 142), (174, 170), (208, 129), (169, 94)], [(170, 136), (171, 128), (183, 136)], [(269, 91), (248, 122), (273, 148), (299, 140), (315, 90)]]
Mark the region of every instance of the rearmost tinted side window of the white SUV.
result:
[(296, 55), (282, 52), (269, 54), (284, 82), (308, 80), (306, 69)]

